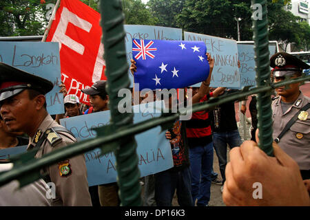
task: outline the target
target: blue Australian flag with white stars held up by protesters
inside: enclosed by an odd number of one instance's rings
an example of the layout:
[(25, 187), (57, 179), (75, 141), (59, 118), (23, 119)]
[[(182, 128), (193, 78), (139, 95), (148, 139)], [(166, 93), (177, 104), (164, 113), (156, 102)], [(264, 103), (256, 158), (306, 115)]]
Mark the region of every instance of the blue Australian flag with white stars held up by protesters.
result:
[(207, 48), (203, 41), (132, 41), (136, 61), (134, 83), (139, 89), (180, 89), (209, 76)]

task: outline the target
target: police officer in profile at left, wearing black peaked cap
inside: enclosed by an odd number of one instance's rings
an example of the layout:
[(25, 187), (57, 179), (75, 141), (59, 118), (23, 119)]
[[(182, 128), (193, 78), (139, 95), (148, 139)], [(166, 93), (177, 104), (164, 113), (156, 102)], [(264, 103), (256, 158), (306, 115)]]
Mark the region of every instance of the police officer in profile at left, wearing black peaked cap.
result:
[[(44, 78), (0, 63), (0, 113), (9, 131), (23, 131), (30, 137), (28, 150), (42, 157), (56, 148), (76, 142), (46, 110), (45, 94), (53, 84)], [(43, 168), (46, 182), (55, 184), (52, 206), (92, 206), (88, 192), (84, 155)]]

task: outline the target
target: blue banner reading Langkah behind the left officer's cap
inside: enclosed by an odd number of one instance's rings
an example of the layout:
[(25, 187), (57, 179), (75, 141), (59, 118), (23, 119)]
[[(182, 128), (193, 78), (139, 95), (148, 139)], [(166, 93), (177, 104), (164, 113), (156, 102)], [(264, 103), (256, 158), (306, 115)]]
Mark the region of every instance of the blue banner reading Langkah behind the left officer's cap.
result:
[(61, 69), (58, 43), (0, 42), (0, 62), (25, 72), (41, 76), (54, 84), (45, 95), (48, 113), (64, 113), (61, 89)]

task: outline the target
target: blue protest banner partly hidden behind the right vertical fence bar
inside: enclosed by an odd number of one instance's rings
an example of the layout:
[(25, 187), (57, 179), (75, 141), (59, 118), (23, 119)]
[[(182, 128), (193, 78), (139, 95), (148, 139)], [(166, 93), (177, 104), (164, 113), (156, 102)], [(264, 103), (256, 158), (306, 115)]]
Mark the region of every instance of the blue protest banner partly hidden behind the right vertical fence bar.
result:
[[(269, 45), (269, 58), (276, 52), (275, 45)], [(238, 57), (240, 61), (240, 88), (256, 86), (256, 72), (253, 44), (238, 44)]]

